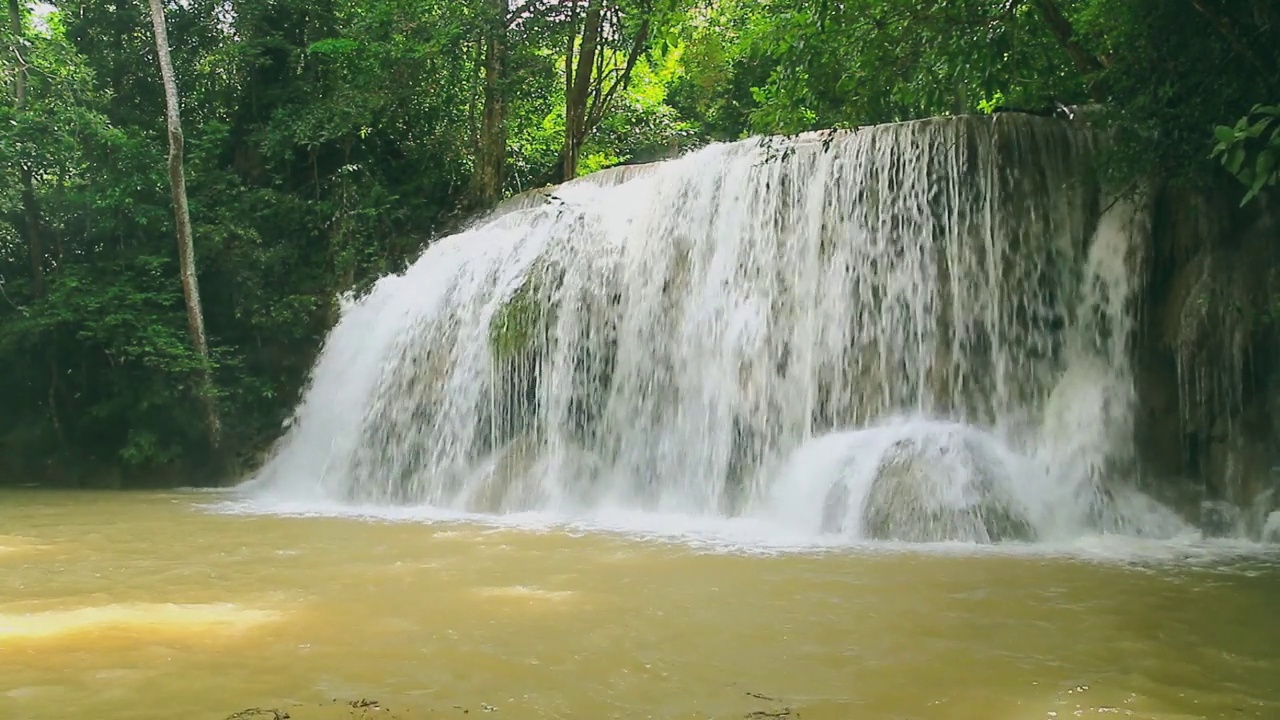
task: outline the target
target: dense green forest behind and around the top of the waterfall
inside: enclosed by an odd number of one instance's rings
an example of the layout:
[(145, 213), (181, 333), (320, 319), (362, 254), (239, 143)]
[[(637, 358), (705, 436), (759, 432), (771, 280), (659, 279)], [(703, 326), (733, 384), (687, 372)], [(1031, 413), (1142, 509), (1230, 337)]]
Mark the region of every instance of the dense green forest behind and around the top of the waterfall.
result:
[[(1075, 106), (1114, 131), (1119, 182), (1234, 174), (1243, 196), (1280, 165), (1274, 0), (152, 5), (8, 0), (0, 482), (242, 470), (343, 293), (506, 196), (611, 165)], [(198, 332), (157, 47), (180, 104)]]

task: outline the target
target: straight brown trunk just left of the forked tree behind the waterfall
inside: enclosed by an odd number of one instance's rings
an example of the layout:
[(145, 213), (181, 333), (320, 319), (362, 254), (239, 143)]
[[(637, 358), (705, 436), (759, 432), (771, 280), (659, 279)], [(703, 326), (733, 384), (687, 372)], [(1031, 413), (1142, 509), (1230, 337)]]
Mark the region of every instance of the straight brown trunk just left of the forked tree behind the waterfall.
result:
[(507, 0), (489, 0), (484, 56), (484, 114), (472, 195), (481, 205), (502, 197), (507, 169)]

